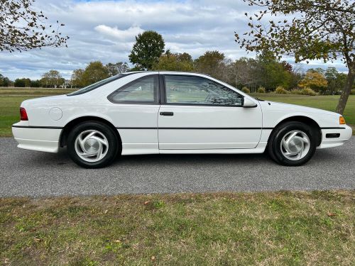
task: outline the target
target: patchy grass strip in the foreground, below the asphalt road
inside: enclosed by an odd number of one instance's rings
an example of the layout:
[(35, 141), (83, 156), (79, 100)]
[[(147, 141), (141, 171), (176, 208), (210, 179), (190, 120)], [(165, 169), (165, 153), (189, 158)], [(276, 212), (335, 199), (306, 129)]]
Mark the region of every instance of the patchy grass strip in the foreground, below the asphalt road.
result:
[(0, 199), (2, 265), (354, 265), (355, 192)]

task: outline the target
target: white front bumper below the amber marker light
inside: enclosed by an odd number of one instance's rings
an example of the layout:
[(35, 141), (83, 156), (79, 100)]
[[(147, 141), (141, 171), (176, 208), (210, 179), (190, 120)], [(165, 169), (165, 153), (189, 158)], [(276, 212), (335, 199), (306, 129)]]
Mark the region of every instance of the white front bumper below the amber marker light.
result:
[[(335, 134), (339, 134), (339, 137), (329, 137), (329, 135), (334, 136)], [(341, 146), (346, 142), (346, 140), (351, 138), (352, 134), (352, 128), (346, 125), (342, 125), (339, 128), (322, 128), (322, 142), (317, 149)]]

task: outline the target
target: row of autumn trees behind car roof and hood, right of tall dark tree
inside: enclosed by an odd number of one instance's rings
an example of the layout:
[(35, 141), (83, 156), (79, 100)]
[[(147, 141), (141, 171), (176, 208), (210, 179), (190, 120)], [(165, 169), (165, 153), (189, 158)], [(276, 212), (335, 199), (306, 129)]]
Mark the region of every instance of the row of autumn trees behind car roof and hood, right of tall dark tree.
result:
[(165, 52), (158, 58), (152, 70), (180, 70), (209, 74), (238, 88), (248, 88), (257, 92), (258, 88), (273, 92), (277, 87), (286, 90), (310, 88), (320, 94), (339, 94), (346, 82), (346, 74), (335, 67), (307, 70), (293, 69), (285, 61), (278, 61), (269, 52), (263, 52), (256, 59), (241, 57), (238, 60), (226, 59), (222, 52), (207, 51), (192, 60), (184, 53)]

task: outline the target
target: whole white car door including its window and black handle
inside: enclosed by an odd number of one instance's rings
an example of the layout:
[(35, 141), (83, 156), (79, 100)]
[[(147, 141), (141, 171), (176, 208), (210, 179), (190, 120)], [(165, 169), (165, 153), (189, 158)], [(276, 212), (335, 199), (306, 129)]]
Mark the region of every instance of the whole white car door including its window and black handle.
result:
[(162, 81), (160, 150), (256, 148), (262, 124), (259, 105), (244, 108), (244, 96), (205, 77), (165, 74)]

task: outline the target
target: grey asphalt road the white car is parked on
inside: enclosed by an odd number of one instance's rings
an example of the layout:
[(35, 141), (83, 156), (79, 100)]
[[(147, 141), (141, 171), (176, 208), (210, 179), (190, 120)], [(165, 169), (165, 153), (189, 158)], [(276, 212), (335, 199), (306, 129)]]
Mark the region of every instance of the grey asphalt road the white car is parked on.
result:
[(174, 192), (355, 189), (355, 138), (317, 150), (301, 167), (266, 155), (136, 155), (86, 170), (67, 157), (16, 148), (0, 138), (0, 196), (76, 196)]

